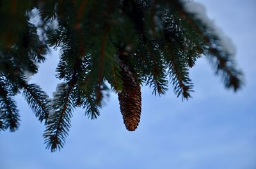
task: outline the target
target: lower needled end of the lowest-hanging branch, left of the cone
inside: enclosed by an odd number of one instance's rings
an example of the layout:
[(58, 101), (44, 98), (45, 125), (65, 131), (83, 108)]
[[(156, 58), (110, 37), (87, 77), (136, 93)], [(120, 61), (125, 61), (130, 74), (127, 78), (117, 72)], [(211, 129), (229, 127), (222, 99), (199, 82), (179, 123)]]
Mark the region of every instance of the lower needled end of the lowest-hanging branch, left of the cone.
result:
[(74, 88), (76, 76), (67, 84), (63, 83), (58, 86), (55, 98), (52, 100), (52, 110), (44, 132), (46, 148), (51, 151), (60, 150), (65, 143), (70, 128), (70, 118), (74, 103), (72, 102), (71, 93)]

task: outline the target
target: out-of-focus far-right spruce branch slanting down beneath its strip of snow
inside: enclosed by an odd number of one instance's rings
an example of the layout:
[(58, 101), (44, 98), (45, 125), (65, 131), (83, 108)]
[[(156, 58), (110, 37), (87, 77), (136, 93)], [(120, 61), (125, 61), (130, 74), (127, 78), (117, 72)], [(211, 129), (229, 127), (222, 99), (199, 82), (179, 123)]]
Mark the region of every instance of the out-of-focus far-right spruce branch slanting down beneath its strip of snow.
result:
[[(177, 8), (179, 5), (176, 5)], [(223, 49), (221, 45), (220, 37), (214, 32), (212, 27), (205, 25), (205, 23), (195, 13), (189, 13), (184, 10), (184, 4), (179, 6), (180, 16), (187, 20), (190, 27), (195, 30), (198, 37), (202, 42), (200, 45), (202, 48), (200, 53), (207, 55), (209, 61), (216, 69), (216, 74), (221, 75), (225, 87), (233, 88), (234, 91), (241, 89), (243, 86), (243, 72), (237, 70), (236, 62), (230, 52)], [(189, 31), (188, 31), (189, 32)]]

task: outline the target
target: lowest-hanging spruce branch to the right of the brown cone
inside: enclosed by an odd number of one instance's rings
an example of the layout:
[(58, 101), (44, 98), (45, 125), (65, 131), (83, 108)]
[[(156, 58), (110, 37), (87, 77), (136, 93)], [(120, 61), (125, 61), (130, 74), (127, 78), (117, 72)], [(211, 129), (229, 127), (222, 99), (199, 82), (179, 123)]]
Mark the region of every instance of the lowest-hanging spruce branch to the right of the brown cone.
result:
[[(188, 57), (184, 47), (186, 47), (186, 36), (182, 33), (179, 24), (175, 18), (165, 13), (166, 21), (164, 23), (164, 39), (161, 40), (161, 48), (164, 51), (164, 60), (166, 61), (168, 72), (173, 84), (174, 92), (183, 99), (191, 98), (190, 92), (193, 92), (193, 84), (188, 73)], [(193, 56), (196, 60), (196, 56)]]

